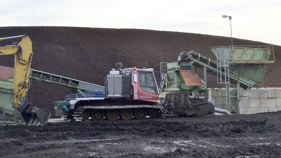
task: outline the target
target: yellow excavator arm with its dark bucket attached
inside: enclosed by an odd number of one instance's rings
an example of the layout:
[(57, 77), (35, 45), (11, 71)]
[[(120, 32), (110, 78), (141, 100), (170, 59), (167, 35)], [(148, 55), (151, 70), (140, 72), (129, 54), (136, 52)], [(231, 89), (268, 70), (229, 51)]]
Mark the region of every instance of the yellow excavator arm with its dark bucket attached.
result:
[(0, 38), (0, 41), (21, 37), (20, 42), (0, 47), (0, 55), (15, 54), (13, 108), (17, 108), (21, 112), (27, 125), (45, 125), (51, 116), (49, 110), (32, 106), (26, 98), (33, 56), (30, 38), (27, 35), (20, 35)]

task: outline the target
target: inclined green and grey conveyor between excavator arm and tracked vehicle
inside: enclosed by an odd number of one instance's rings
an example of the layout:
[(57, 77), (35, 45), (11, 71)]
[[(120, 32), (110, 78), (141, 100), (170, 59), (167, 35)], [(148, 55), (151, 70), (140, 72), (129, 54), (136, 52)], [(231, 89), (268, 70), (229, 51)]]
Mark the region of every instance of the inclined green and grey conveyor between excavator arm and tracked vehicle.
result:
[(77, 90), (79, 93), (83, 93), (83, 91), (96, 91), (101, 90), (104, 91), (103, 86), (99, 86), (96, 84), (83, 82), (80, 80), (75, 80), (72, 78), (67, 78), (55, 74), (50, 74), (43, 71), (38, 71), (31, 69), (31, 72), (29, 74), (31, 79), (37, 80), (37, 81), (44, 81), (51, 84), (57, 84), (64, 87), (69, 87), (72, 89)]

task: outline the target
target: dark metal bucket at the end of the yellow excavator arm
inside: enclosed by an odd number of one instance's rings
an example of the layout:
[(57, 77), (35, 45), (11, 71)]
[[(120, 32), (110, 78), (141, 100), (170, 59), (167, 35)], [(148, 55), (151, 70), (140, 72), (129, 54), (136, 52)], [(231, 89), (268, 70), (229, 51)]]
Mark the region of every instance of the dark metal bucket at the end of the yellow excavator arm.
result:
[(28, 103), (24, 96), (19, 99), (17, 104), (13, 105), (13, 108), (17, 108), (21, 112), (25, 124), (29, 126), (44, 126), (49, 121), (51, 116), (51, 112), (49, 110), (32, 106), (30, 103)]

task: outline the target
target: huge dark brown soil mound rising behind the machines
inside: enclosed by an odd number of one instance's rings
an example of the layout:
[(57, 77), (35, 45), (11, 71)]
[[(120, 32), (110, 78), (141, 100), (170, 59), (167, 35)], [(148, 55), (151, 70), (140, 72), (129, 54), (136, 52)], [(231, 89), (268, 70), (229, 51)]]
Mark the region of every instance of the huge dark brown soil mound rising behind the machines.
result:
[[(86, 27), (0, 27), (0, 36), (9, 37), (27, 34), (33, 42), (31, 68), (104, 85), (104, 77), (116, 62), (123, 67), (160, 69), (160, 62), (172, 62), (179, 53), (194, 50), (213, 60), (209, 49), (231, 45), (230, 37), (153, 31), (144, 29), (103, 29)], [(1, 46), (15, 42), (1, 41)], [(233, 39), (234, 45), (268, 46), (262, 42)], [(280, 51), (274, 46), (276, 64), (268, 66), (264, 87), (280, 87)], [(13, 67), (13, 56), (1, 56), (0, 65)], [(223, 87), (216, 84), (216, 76), (209, 74), (208, 87)], [(53, 111), (53, 102), (64, 100), (73, 93), (67, 88), (33, 81), (29, 101), (39, 108)]]

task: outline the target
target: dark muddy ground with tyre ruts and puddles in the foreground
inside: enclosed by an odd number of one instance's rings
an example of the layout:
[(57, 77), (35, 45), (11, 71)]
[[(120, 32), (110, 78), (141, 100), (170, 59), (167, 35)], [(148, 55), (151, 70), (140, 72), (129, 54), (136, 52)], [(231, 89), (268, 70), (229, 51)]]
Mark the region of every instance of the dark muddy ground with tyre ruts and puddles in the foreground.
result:
[(1, 157), (281, 157), (281, 112), (0, 126)]

